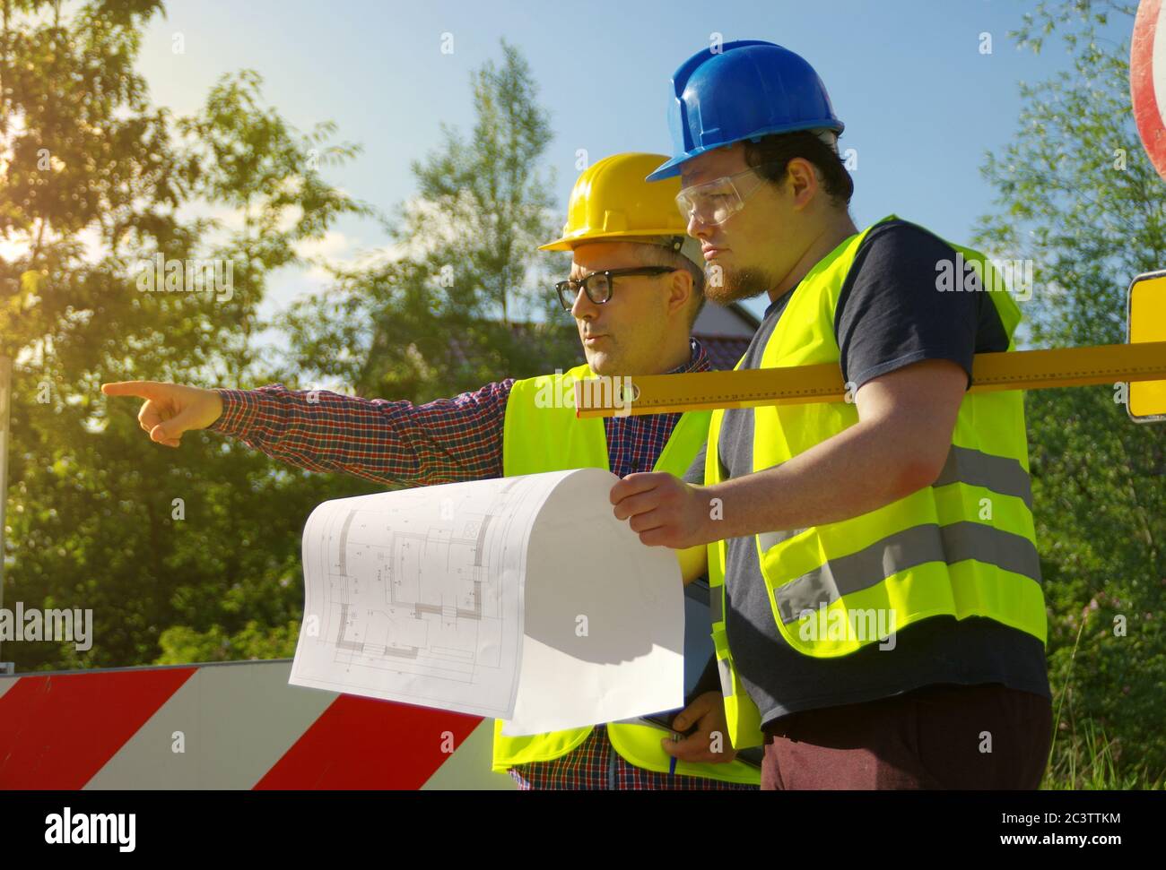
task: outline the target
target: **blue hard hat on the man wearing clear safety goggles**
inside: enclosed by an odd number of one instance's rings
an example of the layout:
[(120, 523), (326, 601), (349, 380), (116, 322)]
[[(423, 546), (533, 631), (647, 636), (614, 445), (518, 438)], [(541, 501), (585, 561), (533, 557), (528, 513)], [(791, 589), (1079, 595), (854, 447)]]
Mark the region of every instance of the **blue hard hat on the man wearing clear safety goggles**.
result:
[(721, 146), (772, 133), (842, 133), (826, 85), (801, 55), (760, 40), (697, 51), (673, 73), (668, 106), (670, 161), (649, 182), (680, 175), (680, 164)]

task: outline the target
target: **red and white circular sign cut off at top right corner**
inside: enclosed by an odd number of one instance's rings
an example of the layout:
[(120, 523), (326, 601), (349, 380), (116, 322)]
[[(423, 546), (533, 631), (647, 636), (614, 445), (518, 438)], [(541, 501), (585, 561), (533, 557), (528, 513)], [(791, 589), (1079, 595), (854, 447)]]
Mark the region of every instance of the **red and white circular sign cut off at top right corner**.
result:
[(1166, 9), (1142, 0), (1130, 49), (1130, 96), (1142, 143), (1158, 175), (1166, 178)]

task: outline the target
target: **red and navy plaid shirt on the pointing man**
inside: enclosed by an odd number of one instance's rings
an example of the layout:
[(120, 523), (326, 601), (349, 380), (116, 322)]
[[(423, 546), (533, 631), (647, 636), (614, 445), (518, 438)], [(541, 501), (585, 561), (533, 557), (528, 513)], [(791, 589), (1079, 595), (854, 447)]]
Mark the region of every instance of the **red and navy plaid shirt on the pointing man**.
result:
[[(668, 374), (708, 372), (701, 344)], [(217, 390), (223, 415), (208, 429), (238, 438), (283, 462), (312, 472), (343, 472), (392, 487), (503, 476), (503, 423), (514, 379), (472, 392), (415, 405), (328, 390)], [(623, 478), (649, 472), (679, 413), (605, 417), (611, 471)], [(625, 762), (599, 726), (575, 750), (550, 762), (511, 770), (520, 788), (740, 788), (698, 777), (641, 770)]]

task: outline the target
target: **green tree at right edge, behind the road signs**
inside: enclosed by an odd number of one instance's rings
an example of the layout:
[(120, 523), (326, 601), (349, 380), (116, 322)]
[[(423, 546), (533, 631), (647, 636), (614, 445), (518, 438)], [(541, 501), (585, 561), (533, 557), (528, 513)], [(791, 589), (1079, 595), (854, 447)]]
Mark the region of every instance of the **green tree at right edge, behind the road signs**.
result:
[[(1129, 2), (1041, 2), (1013, 36), (1056, 36), (1072, 69), (1021, 85), (1017, 134), (988, 154), (1000, 211), (977, 242), (1031, 259), (1038, 346), (1125, 340), (1130, 280), (1166, 267), (1166, 184), (1129, 97)], [(1059, 714), (1054, 784), (1160, 784), (1166, 687), (1166, 431), (1131, 423), (1110, 387), (1028, 394), (1034, 514)], [(1124, 635), (1122, 630), (1124, 629)], [(1089, 765), (1093, 765), (1091, 768)]]

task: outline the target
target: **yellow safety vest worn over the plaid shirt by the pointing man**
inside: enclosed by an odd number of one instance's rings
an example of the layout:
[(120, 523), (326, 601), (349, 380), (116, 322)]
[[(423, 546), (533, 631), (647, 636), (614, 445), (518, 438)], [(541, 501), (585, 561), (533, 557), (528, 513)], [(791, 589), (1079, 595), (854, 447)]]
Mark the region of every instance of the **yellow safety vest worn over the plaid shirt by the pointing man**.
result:
[[(574, 396), (577, 379), (595, 376), (588, 366), (578, 366), (564, 374), (514, 382), (506, 401), (503, 430), (503, 473), (506, 476), (568, 468), (609, 468), (603, 420), (578, 419), (575, 417), (573, 398), (562, 401), (563, 397)], [(704, 444), (708, 430), (708, 411), (682, 415), (653, 471), (682, 476)], [(559, 758), (578, 747), (591, 734), (591, 727), (588, 726), (528, 737), (505, 737), (501, 728), (501, 720), (496, 720), (496, 771)], [(759, 771), (739, 761), (726, 764), (689, 764), (674, 759), (660, 745), (660, 738), (667, 734), (662, 728), (628, 722), (612, 722), (607, 726), (611, 745), (637, 768), (729, 783), (760, 783)]]

